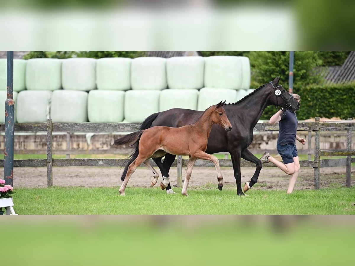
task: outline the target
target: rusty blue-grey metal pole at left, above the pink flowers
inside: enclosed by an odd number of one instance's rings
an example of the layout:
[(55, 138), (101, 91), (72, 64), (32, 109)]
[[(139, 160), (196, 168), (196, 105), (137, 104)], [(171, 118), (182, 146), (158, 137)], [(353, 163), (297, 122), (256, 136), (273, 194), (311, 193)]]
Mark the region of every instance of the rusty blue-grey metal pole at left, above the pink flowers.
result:
[(7, 98), (5, 100), (4, 179), (13, 185), (13, 138), (15, 133), (15, 101), (13, 100), (13, 51), (7, 52)]

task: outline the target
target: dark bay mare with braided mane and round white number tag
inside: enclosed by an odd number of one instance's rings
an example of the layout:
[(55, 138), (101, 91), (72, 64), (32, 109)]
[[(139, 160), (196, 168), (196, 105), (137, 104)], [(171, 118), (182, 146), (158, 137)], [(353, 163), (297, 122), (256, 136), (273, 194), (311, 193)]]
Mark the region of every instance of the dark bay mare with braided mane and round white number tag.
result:
[[(250, 187), (257, 182), (262, 168), (261, 161), (247, 148), (253, 141), (253, 128), (265, 108), (269, 105), (275, 105), (292, 111), (298, 110), (300, 107), (299, 102), (294, 101), (293, 96), (278, 84), (279, 80), (280, 78), (277, 77), (274, 81), (262, 85), (240, 101), (224, 105), (233, 131), (227, 134), (223, 128), (213, 125), (209, 135), (206, 153), (229, 152), (231, 155), (238, 195), (244, 195), (241, 187), (240, 159), (243, 158), (256, 164), (255, 173), (249, 183)], [(201, 114), (202, 111), (179, 108), (154, 113), (143, 121), (140, 130), (153, 126), (182, 127), (195, 122)], [(169, 177), (169, 170), (176, 156), (167, 153), (163, 162), (162, 157), (152, 159), (162, 172), (163, 178), (165, 178)], [(129, 164), (135, 159), (135, 156), (131, 157)], [(129, 164), (125, 166), (121, 179), (125, 178)], [(219, 183), (218, 189), (222, 190), (222, 187), (223, 183)], [(170, 183), (166, 187), (166, 192), (174, 193)]]

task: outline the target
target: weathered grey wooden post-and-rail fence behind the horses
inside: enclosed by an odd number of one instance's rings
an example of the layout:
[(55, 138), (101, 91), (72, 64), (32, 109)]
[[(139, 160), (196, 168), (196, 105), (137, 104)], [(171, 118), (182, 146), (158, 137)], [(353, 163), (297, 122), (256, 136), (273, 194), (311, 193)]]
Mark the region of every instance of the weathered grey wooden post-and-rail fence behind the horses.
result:
[[(355, 128), (354, 121), (342, 122), (320, 122), (316, 117), (315, 122), (299, 123), (297, 131), (315, 132), (314, 160), (300, 161), (301, 167), (314, 168), (314, 185), (319, 189), (319, 173), (322, 167), (346, 166), (346, 186), (350, 187), (351, 180), (351, 162), (355, 162), (355, 150), (351, 150), (351, 130)], [(349, 118), (348, 120), (351, 120)], [(47, 123), (15, 123), (15, 132), (40, 132), (47, 131), (47, 159), (26, 159), (14, 160), (14, 167), (46, 167), (47, 183), (53, 185), (53, 166), (124, 166), (125, 159), (53, 159), (53, 132), (87, 132), (87, 133), (113, 133), (113, 132), (133, 132), (137, 131), (140, 123), (120, 123), (120, 124), (95, 124), (95, 123), (52, 123), (49, 119)], [(0, 123), (0, 131), (4, 131), (4, 123)], [(278, 126), (268, 123), (256, 124), (254, 131), (279, 131)], [(321, 131), (347, 131), (347, 150), (320, 150), (320, 132)], [(311, 134), (308, 134), (310, 136)], [(310, 138), (310, 137), (309, 137)], [(310, 139), (308, 145), (310, 145)], [(344, 159), (325, 159), (320, 160), (320, 156), (347, 156)], [(309, 159), (309, 158), (308, 158)], [(172, 166), (177, 167), (178, 186), (182, 186), (182, 167), (187, 166), (188, 159), (182, 159), (178, 156)], [(152, 162), (153, 166), (156, 166)], [(233, 167), (231, 160), (220, 159), (219, 165), (222, 167)], [(141, 166), (144, 166), (142, 164)], [(195, 166), (214, 166), (210, 161), (197, 160)], [(242, 167), (255, 167), (255, 164), (241, 160)], [(275, 167), (271, 163), (264, 164), (263, 167)], [(4, 167), (4, 160), (0, 160), (0, 167)]]

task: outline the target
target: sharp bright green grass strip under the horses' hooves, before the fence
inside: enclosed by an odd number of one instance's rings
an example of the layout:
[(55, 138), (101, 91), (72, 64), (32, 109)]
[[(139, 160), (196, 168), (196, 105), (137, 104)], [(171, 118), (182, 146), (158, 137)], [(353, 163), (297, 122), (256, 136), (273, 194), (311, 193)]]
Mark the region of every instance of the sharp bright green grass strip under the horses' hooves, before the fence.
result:
[[(355, 188), (296, 190), (255, 189), (249, 196), (235, 189), (189, 189), (190, 197), (168, 195), (159, 188), (127, 188), (120, 196), (118, 187), (51, 187), (18, 189), (15, 211), (35, 214), (355, 214)], [(178, 192), (178, 189), (175, 189)]]

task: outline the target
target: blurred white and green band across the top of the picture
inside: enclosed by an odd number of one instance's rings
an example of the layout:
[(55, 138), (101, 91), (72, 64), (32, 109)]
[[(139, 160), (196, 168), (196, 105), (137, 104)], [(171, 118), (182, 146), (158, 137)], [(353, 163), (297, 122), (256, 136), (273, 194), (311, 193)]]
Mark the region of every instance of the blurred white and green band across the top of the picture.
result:
[(355, 2), (0, 0), (0, 50), (351, 50)]

